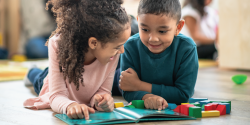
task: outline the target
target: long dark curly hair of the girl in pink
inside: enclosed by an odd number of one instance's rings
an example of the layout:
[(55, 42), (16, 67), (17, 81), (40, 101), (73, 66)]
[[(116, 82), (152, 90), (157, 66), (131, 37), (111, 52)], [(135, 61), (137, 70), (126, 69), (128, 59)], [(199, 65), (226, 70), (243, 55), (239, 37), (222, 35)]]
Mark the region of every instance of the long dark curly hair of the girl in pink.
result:
[[(49, 0), (56, 16), (57, 29), (52, 32), (60, 35), (57, 48), (59, 69), (64, 80), (73, 82), (76, 90), (83, 83), (84, 57), (88, 52), (88, 39), (95, 37), (102, 46), (118, 38), (127, 29), (129, 17), (121, 4), (123, 0)], [(47, 43), (48, 44), (48, 41)]]

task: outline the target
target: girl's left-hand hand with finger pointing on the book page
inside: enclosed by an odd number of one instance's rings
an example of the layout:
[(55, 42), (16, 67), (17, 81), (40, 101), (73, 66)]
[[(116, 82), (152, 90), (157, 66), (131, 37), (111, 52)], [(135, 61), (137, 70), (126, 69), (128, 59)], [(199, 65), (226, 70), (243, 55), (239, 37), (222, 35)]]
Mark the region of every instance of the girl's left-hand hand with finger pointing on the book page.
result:
[(85, 117), (85, 119), (88, 120), (89, 112), (95, 113), (95, 110), (85, 104), (74, 102), (67, 107), (67, 116), (71, 119), (82, 119)]

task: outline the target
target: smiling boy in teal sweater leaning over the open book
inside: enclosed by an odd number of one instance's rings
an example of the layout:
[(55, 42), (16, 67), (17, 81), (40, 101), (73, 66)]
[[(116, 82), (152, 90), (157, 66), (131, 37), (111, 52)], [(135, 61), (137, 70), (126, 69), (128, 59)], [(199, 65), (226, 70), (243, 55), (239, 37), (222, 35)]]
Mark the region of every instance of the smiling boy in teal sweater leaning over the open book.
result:
[(144, 100), (148, 109), (184, 103), (194, 93), (198, 56), (194, 41), (182, 34), (179, 0), (141, 0), (139, 34), (124, 45), (119, 87), (128, 102)]

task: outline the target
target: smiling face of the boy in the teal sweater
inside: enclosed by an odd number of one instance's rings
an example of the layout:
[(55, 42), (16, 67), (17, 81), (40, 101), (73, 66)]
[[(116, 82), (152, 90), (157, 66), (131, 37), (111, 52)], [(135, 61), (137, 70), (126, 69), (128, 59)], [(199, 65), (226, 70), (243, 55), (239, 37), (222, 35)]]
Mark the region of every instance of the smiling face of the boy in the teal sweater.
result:
[(141, 41), (154, 54), (168, 48), (184, 25), (184, 21), (179, 26), (177, 20), (166, 15), (140, 14), (137, 20)]

